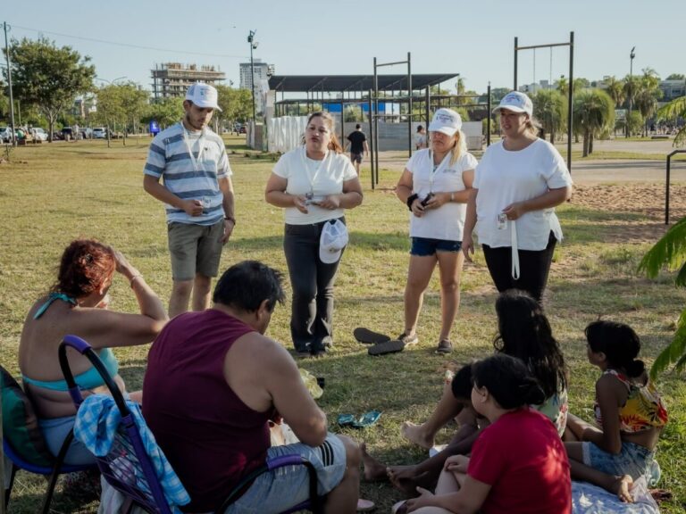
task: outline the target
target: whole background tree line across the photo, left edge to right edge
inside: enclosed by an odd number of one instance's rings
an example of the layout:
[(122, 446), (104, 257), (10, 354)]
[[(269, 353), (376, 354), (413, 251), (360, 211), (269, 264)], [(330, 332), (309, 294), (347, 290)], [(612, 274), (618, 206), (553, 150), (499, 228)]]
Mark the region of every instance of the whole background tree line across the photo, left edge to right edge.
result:
[[(65, 125), (82, 122), (70, 114), (79, 96), (84, 100), (89, 97), (96, 99), (95, 109), (85, 112), (88, 124), (103, 125), (108, 132), (109, 129), (119, 128), (124, 137), (128, 132), (137, 133), (141, 124), (151, 120), (166, 127), (180, 120), (183, 115), (182, 98), (165, 97), (151, 102), (149, 93), (133, 82), (96, 87), (96, 67), (90, 58), (82, 57), (70, 46), (55, 46), (54, 41), (46, 37), (37, 40), (23, 38), (21, 41), (13, 39), (9, 54), (13, 95), (24, 112), (23, 119), (36, 120), (39, 124), (42, 117), (46, 120), (51, 138), (58, 122), (62, 121)], [(667, 79), (684, 79), (684, 76), (673, 74)], [(573, 137), (583, 138), (584, 156), (593, 152), (595, 138), (607, 136), (610, 132), (621, 130), (627, 137), (641, 133), (646, 136), (649, 120), (676, 120), (686, 116), (684, 97), (657, 111), (662, 91), (657, 72), (651, 68), (642, 70), (640, 75), (623, 79), (609, 77), (604, 82), (605, 87), (598, 88), (591, 87), (587, 79), (573, 81)], [(531, 97), (534, 114), (553, 143), (557, 135), (565, 130), (569, 87), (568, 80), (563, 77), (557, 81), (556, 87), (541, 89)], [(223, 85), (217, 86), (217, 90), (222, 108), (222, 112), (216, 112), (214, 116), (217, 126), (232, 126), (250, 117), (250, 91)], [(456, 91), (456, 108), (465, 120), (469, 120), (469, 105), (482, 102), (483, 98), (474, 91), (465, 91), (464, 79), (457, 80)], [(498, 102), (507, 92), (508, 89), (504, 87), (494, 88), (491, 91), (494, 102)], [(446, 92), (432, 87), (432, 95), (441, 93)], [(8, 102), (0, 101), (0, 116), (6, 117), (6, 104)], [(620, 108), (628, 112), (623, 119), (615, 120), (615, 109)], [(347, 121), (358, 120), (361, 116), (359, 109), (352, 107), (344, 112)], [(682, 128), (675, 144), (683, 142), (686, 142), (686, 132)]]

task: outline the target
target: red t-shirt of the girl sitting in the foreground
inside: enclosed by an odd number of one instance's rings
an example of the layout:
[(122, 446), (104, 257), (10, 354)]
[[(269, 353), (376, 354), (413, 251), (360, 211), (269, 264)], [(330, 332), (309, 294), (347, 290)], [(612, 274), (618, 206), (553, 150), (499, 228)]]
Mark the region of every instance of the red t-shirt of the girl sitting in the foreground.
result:
[(491, 485), (483, 514), (571, 514), (565, 446), (548, 418), (528, 408), (484, 428), (467, 475)]

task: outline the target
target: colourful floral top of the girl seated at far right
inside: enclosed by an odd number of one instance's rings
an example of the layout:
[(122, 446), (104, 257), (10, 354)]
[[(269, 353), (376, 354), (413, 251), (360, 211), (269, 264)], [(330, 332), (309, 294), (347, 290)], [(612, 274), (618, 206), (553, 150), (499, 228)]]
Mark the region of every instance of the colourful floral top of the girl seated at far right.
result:
[[(636, 433), (652, 427), (665, 427), (667, 410), (660, 399), (655, 386), (648, 380), (645, 386), (637, 386), (628, 377), (615, 369), (606, 369), (603, 375), (612, 375), (626, 386), (629, 396), (619, 410), (619, 429), (622, 432)], [(593, 408), (596, 422), (602, 425), (603, 417), (598, 401)]]

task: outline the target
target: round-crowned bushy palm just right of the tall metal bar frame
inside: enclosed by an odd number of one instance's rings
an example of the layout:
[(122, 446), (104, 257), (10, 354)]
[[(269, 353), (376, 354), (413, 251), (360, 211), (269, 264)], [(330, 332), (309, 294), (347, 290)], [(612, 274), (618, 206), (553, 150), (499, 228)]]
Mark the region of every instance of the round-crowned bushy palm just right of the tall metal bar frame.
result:
[(574, 96), (573, 121), (583, 136), (583, 157), (593, 152), (593, 137), (615, 124), (612, 98), (600, 89), (582, 89)]

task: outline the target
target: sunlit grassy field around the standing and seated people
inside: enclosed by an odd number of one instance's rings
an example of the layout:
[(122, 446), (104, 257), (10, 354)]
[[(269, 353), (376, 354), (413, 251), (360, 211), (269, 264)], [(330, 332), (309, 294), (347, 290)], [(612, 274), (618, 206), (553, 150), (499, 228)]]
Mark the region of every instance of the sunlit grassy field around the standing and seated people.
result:
[[(38, 145), (13, 151), (13, 162), (0, 164), (0, 218), (4, 220), (0, 253), (0, 361), (18, 373), (17, 345), (31, 303), (54, 280), (58, 258), (71, 239), (96, 237), (125, 253), (166, 301), (171, 273), (163, 207), (142, 188), (142, 168), (148, 140), (126, 147), (93, 141)], [(244, 259), (258, 259), (286, 270), (281, 249), (282, 212), (264, 203), (264, 183), (272, 157), (247, 157), (238, 139), (228, 140), (236, 189), (238, 225), (222, 256), (222, 269)], [(381, 168), (384, 168), (383, 165)], [(456, 352), (433, 352), (439, 334), (439, 287), (434, 278), (422, 311), (420, 345), (407, 352), (371, 358), (356, 343), (352, 331), (364, 325), (391, 335), (402, 329), (402, 293), (408, 261), (407, 211), (392, 194), (397, 170), (381, 171), (381, 187), (368, 190), (363, 169), (364, 204), (347, 214), (350, 245), (336, 285), (335, 346), (319, 360), (299, 361), (316, 376), (326, 377), (320, 401), (330, 419), (339, 413), (383, 412), (378, 424), (364, 431), (342, 432), (365, 441), (370, 451), (388, 463), (411, 463), (423, 452), (406, 444), (400, 423), (419, 422), (438, 401), (445, 369), (488, 355), (496, 332), (496, 291), (483, 256), (464, 270), (461, 311), (453, 340)], [(570, 408), (592, 416), (593, 385), (598, 369), (585, 356), (583, 327), (599, 315), (635, 327), (643, 341), (642, 356), (652, 361), (673, 336), (674, 324), (686, 301), (686, 291), (664, 274), (650, 281), (636, 274), (640, 257), (661, 232), (632, 236), (632, 228), (653, 222), (640, 212), (595, 209), (568, 203), (559, 209), (565, 242), (558, 246), (546, 297), (554, 333), (572, 371)], [(622, 231), (623, 230), (623, 231)], [(438, 274), (437, 274), (438, 275)], [(136, 311), (129, 285), (116, 279), (112, 308)], [(289, 344), (289, 306), (277, 309), (269, 335)], [(131, 390), (141, 386), (148, 347), (121, 348), (121, 374)], [(660, 385), (671, 414), (658, 446), (664, 472), (661, 486), (674, 493), (665, 512), (682, 512), (686, 502), (686, 386), (681, 377), (665, 375)], [(445, 442), (453, 427), (444, 429)], [(45, 482), (20, 473), (9, 512), (38, 510)], [(61, 494), (54, 512), (92, 513), (97, 502)], [(362, 494), (388, 511), (400, 495), (388, 485), (364, 484)]]

